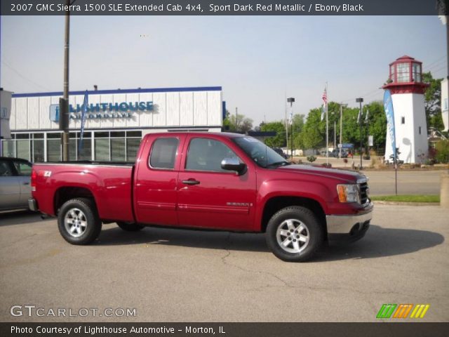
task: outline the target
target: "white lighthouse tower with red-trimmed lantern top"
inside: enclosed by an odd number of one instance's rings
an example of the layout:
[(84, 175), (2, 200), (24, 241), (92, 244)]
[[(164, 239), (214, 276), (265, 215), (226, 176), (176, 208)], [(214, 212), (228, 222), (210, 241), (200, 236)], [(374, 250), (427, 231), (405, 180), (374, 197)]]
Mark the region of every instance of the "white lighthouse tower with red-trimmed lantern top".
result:
[[(391, 91), (396, 131), (398, 160), (404, 163), (422, 163), (427, 158), (427, 122), (424, 110), (422, 62), (403, 56), (390, 63), (388, 83), (382, 88)], [(391, 139), (387, 132), (385, 160), (391, 161)]]

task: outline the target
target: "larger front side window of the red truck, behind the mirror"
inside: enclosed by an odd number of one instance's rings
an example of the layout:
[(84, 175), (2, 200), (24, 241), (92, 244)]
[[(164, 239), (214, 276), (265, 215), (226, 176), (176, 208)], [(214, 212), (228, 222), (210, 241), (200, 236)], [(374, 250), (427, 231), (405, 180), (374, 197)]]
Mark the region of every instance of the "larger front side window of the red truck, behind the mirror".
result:
[(194, 138), (189, 145), (185, 169), (229, 173), (221, 167), (222, 160), (225, 158), (239, 159), (234, 151), (218, 140)]

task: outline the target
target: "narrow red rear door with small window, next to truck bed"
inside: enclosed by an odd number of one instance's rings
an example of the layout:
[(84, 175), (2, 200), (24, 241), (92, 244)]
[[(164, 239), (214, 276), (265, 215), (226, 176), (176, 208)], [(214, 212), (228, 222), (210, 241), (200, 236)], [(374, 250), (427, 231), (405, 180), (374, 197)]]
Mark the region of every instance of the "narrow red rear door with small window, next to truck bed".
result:
[(136, 164), (135, 216), (138, 223), (177, 225), (177, 175), (184, 135), (146, 138)]

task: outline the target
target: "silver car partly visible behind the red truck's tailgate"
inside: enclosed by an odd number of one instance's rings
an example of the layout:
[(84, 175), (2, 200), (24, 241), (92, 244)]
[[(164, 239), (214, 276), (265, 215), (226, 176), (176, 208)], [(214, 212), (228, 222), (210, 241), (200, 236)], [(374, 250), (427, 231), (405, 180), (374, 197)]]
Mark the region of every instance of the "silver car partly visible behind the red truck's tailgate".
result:
[(0, 211), (28, 209), (31, 170), (25, 159), (0, 157)]

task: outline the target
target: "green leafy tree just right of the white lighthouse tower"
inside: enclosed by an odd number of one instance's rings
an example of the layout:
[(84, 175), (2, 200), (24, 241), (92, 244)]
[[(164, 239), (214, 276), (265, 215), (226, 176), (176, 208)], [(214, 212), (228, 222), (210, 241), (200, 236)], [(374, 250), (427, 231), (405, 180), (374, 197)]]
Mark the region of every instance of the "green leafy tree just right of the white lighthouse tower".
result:
[(431, 72), (422, 74), (422, 81), (429, 84), (424, 91), (424, 109), (426, 111), (426, 120), (428, 128), (443, 130), (443, 118), (441, 117), (441, 81), (443, 79), (434, 79)]

